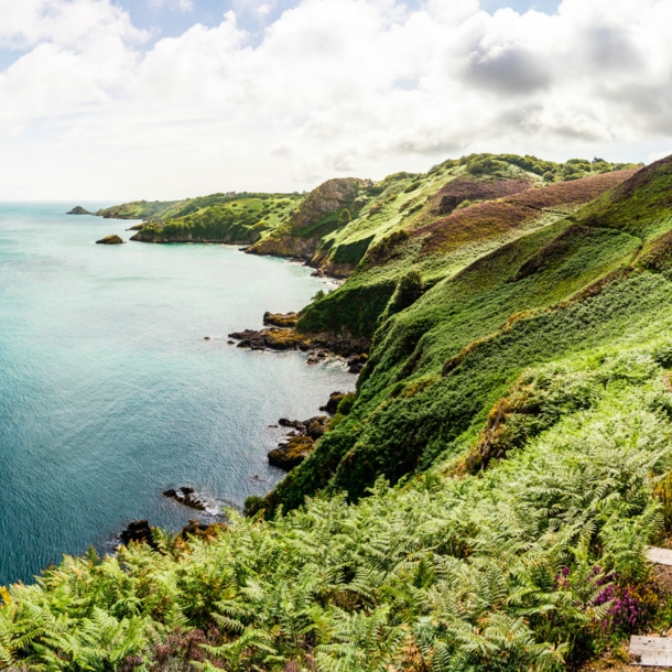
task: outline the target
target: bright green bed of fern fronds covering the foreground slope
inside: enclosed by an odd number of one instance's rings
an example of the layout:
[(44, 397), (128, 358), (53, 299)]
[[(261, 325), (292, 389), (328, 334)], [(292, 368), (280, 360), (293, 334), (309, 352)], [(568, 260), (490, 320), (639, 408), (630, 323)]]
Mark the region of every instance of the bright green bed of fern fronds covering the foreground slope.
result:
[(644, 561), (672, 530), (672, 342), (653, 332), (528, 369), (519, 405), (541, 430), (477, 476), (379, 481), (357, 506), (323, 497), (272, 522), (232, 512), (209, 539), (156, 533), (160, 552), (91, 552), (0, 590), (0, 661), (560, 672), (622, 655), (630, 632), (672, 624)]

